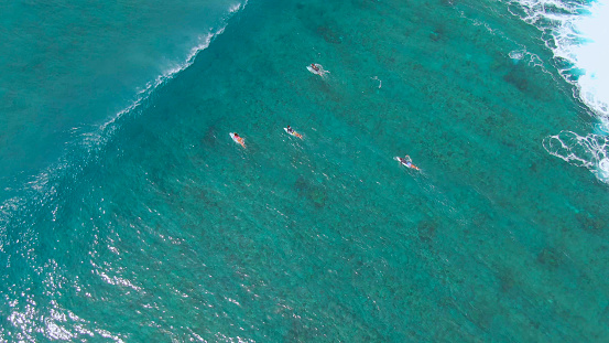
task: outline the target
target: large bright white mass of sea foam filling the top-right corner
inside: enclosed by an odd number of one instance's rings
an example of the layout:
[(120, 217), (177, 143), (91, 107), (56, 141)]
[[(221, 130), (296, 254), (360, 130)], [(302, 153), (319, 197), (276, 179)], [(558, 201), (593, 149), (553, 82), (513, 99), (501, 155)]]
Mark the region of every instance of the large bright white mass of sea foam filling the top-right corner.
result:
[(510, 0), (511, 12), (543, 32), (561, 75), (599, 117), (609, 117), (609, 7), (602, 2)]

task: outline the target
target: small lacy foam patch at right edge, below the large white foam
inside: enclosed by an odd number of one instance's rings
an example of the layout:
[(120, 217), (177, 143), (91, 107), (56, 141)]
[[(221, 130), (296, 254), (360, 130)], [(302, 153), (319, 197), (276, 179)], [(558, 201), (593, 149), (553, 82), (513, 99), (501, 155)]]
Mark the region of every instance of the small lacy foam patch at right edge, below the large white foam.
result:
[(590, 133), (581, 137), (572, 131), (562, 131), (547, 137), (543, 147), (565, 162), (590, 170), (599, 180), (609, 183), (609, 138)]

